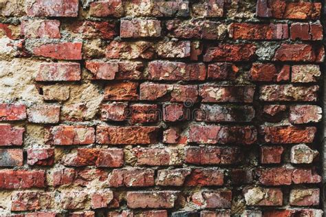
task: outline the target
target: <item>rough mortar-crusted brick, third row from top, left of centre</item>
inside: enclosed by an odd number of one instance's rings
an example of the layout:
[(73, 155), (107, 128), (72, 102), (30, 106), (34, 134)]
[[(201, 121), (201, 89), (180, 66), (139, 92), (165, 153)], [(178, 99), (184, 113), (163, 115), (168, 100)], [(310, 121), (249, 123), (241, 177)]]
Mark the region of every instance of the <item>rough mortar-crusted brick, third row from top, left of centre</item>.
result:
[(156, 55), (154, 44), (149, 41), (111, 41), (107, 45), (107, 59), (153, 59)]

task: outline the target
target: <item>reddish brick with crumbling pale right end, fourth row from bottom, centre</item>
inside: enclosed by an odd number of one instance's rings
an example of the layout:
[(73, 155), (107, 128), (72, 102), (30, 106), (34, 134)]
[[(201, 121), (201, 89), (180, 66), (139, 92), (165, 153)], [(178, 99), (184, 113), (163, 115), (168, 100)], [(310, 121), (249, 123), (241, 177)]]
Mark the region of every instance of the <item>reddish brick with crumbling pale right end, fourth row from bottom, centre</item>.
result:
[(182, 150), (177, 148), (133, 148), (132, 154), (137, 165), (182, 165)]

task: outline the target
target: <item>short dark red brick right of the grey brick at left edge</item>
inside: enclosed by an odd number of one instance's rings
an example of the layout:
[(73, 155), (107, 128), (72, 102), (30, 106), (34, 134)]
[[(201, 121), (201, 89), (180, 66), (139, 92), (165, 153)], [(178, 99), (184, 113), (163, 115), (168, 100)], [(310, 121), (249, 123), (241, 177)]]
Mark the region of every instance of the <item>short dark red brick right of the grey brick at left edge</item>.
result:
[(28, 165), (52, 166), (54, 164), (54, 149), (28, 149)]

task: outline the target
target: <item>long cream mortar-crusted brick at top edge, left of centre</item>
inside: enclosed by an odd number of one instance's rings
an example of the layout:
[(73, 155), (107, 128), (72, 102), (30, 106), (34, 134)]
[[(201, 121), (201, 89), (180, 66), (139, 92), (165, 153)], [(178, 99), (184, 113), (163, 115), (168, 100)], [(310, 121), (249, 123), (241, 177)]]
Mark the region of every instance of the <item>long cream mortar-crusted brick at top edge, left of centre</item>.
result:
[(136, 0), (124, 3), (127, 16), (131, 17), (188, 17), (188, 1)]

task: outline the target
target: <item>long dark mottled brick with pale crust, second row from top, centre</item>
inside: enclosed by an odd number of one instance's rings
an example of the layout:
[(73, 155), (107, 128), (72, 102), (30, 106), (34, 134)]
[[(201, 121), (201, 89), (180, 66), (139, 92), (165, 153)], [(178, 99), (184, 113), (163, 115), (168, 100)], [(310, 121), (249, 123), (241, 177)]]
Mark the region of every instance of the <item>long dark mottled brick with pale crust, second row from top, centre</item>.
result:
[(168, 37), (181, 39), (221, 40), (226, 37), (226, 25), (214, 21), (174, 19), (166, 21)]

